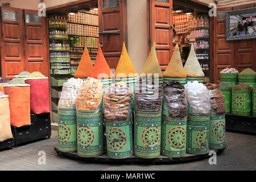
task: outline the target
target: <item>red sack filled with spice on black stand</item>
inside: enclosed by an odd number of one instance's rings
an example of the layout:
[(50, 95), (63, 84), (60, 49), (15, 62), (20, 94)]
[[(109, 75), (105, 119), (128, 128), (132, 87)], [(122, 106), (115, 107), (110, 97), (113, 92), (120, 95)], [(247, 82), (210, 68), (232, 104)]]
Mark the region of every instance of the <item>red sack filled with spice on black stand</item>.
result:
[(30, 87), (30, 110), (34, 114), (49, 113), (49, 81), (48, 77), (25, 78)]

